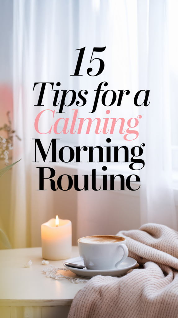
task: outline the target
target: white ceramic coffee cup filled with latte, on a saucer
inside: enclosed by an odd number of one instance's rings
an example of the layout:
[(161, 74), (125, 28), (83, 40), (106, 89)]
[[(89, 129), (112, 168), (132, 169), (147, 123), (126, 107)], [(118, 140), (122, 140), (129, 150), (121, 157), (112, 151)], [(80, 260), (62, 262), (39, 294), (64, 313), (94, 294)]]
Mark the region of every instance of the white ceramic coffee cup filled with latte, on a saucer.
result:
[(117, 268), (128, 256), (126, 239), (114, 235), (93, 235), (78, 239), (78, 249), (89, 269)]

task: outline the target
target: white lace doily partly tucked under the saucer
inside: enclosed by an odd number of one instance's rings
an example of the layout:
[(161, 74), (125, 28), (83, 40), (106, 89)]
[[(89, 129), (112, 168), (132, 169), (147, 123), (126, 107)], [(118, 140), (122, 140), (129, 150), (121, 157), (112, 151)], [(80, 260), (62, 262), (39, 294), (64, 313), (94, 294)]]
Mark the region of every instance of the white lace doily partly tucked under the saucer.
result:
[[(43, 268), (43, 272), (46, 274), (46, 277), (54, 278), (57, 280), (69, 280), (73, 284), (84, 284), (87, 283), (89, 279), (78, 278), (78, 276), (72, 273), (69, 269), (66, 268), (56, 268), (53, 265), (49, 265), (49, 268)], [(61, 273), (62, 272), (62, 273)]]

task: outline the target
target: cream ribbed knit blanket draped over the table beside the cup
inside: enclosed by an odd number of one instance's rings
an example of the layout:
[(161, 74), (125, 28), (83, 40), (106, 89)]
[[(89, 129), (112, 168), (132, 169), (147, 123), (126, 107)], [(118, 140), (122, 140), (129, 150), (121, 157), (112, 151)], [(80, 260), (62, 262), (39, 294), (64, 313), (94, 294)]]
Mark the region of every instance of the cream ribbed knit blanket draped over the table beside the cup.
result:
[(93, 277), (76, 294), (68, 318), (178, 318), (178, 232), (150, 223), (117, 235), (143, 268), (120, 278)]

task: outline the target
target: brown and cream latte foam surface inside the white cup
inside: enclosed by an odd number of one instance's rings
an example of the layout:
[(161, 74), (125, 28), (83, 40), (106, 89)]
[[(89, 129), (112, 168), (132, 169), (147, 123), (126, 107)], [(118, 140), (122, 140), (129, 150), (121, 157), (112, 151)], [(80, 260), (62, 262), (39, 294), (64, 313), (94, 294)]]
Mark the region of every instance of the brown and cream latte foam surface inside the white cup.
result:
[(125, 241), (124, 238), (120, 236), (114, 235), (93, 235), (93, 236), (86, 236), (78, 240), (81, 243), (117, 243)]

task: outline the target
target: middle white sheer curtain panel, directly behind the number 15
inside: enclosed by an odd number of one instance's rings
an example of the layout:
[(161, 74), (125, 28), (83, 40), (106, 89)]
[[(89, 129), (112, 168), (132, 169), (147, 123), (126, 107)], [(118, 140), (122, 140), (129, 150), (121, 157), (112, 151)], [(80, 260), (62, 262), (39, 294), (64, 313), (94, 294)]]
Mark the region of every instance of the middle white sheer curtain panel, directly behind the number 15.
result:
[[(97, 3), (97, 5), (96, 5)], [(95, 4), (95, 5), (94, 5)], [(138, 91), (138, 48), (137, 48), (137, 2), (136, 1), (80, 1), (79, 2), (79, 47), (86, 45), (86, 48), (92, 46), (106, 46), (106, 51), (102, 54), (105, 62), (105, 69), (98, 79), (90, 78), (87, 74), (80, 79), (90, 91), (96, 90), (98, 83), (107, 81), (108, 86), (104, 90), (112, 89), (117, 92), (119, 89), (129, 89), (130, 94), (125, 95), (120, 107), (105, 107), (98, 103), (96, 112), (92, 119), (96, 117), (122, 117), (125, 121), (129, 118), (137, 117), (140, 113), (139, 107), (133, 106), (135, 93)], [(90, 49), (91, 51), (91, 49)], [(88, 60), (90, 60), (88, 52)], [(79, 85), (81, 85), (79, 83)], [(103, 86), (104, 87), (104, 86)], [(94, 95), (94, 94), (93, 94)], [(93, 100), (91, 101), (92, 105)], [(109, 101), (108, 101), (109, 104)], [(110, 114), (106, 114), (106, 110)], [(88, 117), (87, 116), (87, 117)], [(108, 125), (108, 128), (110, 126)], [(116, 127), (114, 134), (93, 135), (92, 138), (82, 134), (79, 137), (79, 144), (91, 146), (127, 146), (131, 147), (140, 145), (140, 140), (125, 141), (123, 135), (119, 134), (119, 125)], [(110, 138), (111, 143), (107, 144), (106, 139)], [(132, 137), (134, 138), (134, 137)], [(122, 155), (122, 154), (121, 154)], [(87, 160), (86, 160), (87, 161)], [(96, 160), (97, 161), (97, 160)], [(81, 165), (80, 169), (95, 169), (98, 174), (107, 173), (129, 176), (132, 173), (138, 174), (138, 171), (131, 171), (129, 163), (91, 163)], [(107, 171), (102, 171), (102, 166), (107, 166)], [(79, 172), (80, 175), (84, 174)], [(90, 172), (91, 174), (91, 172)], [(109, 177), (108, 177), (109, 180)], [(98, 184), (102, 180), (98, 180)], [(98, 187), (99, 188), (99, 187)], [(109, 189), (109, 187), (108, 187)], [(117, 188), (119, 189), (119, 188)], [(116, 191), (113, 191), (116, 192)], [(116, 196), (112, 191), (80, 191), (78, 193), (78, 237), (94, 235), (96, 233), (117, 232), (118, 226), (122, 224), (122, 218), (131, 216), (131, 205), (125, 204), (121, 213), (122, 197)], [(118, 191), (124, 192), (124, 191)], [(130, 191), (131, 192), (131, 191)], [(129, 200), (128, 196), (128, 200)], [(123, 204), (123, 206), (124, 206)], [(129, 210), (127, 212), (126, 210)], [(122, 217), (122, 214), (124, 215)], [(129, 220), (128, 220), (129, 223)], [(129, 225), (128, 225), (129, 226)]]

